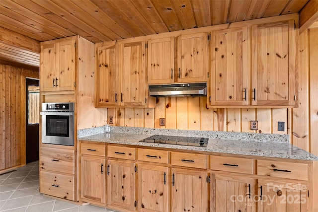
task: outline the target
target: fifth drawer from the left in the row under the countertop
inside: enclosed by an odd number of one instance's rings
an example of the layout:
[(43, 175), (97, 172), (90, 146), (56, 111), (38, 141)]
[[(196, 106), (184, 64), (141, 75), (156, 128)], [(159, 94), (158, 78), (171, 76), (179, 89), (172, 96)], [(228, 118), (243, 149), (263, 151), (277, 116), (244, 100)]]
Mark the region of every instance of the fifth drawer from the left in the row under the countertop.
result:
[(213, 170), (253, 174), (253, 159), (210, 156), (210, 168)]

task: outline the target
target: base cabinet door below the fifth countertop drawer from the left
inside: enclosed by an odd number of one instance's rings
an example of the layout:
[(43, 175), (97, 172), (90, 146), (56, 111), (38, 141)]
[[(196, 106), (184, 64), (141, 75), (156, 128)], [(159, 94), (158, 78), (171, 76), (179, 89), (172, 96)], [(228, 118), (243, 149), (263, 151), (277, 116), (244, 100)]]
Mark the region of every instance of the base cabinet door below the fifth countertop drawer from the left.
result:
[(211, 212), (252, 212), (251, 178), (226, 174), (211, 178)]

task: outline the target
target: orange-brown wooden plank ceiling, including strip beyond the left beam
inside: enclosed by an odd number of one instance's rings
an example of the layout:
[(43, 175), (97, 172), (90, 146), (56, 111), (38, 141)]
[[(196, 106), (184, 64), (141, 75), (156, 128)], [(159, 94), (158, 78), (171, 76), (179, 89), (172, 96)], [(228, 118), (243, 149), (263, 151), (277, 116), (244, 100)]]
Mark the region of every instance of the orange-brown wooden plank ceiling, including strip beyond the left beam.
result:
[[(0, 29), (39, 42), (80, 35), (99, 43), (298, 13), (308, 1), (0, 0)], [(0, 48), (1, 60), (17, 58), (18, 53), (14, 48), (5, 44), (1, 44)], [(38, 64), (31, 53), (29, 58), (17, 59), (19, 61), (16, 62)], [(25, 51), (21, 51), (22, 56), (26, 57), (25, 54)]]

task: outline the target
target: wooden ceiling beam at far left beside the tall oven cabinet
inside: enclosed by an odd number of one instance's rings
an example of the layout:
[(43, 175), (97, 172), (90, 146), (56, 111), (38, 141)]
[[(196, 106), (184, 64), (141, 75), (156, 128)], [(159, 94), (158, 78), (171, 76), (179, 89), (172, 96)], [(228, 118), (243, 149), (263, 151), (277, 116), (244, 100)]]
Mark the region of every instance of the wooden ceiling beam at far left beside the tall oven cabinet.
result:
[(40, 53), (40, 42), (0, 27), (0, 42), (31, 52)]

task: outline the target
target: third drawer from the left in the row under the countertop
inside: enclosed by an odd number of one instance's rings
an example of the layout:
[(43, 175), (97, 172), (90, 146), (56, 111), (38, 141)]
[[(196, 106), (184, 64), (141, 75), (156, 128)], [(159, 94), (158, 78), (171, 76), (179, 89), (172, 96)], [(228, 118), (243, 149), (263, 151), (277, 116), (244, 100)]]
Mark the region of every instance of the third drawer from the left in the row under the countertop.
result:
[(138, 160), (168, 164), (168, 151), (139, 148)]

